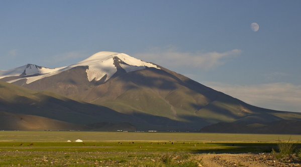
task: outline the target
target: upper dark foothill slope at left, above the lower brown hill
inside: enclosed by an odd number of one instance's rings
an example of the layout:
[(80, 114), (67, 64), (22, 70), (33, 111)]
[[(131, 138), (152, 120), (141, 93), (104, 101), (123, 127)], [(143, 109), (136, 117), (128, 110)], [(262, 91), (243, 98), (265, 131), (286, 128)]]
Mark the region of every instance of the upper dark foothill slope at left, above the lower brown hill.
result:
[(127, 120), (123, 119), (124, 115), (103, 106), (80, 103), (51, 92), (32, 91), (4, 82), (0, 82), (0, 111), (42, 116), (81, 125), (106, 120)]

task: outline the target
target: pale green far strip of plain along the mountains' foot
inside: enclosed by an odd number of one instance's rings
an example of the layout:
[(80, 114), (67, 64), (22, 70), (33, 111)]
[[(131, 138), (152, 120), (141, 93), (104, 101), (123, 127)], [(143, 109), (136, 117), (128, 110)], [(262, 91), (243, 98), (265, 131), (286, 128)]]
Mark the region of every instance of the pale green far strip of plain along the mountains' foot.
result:
[(200, 141), (200, 142), (301, 142), (301, 135), (230, 134), (230, 133), (171, 133), (171, 132), (88, 132), (88, 131), (0, 131), (0, 142), (52, 141)]

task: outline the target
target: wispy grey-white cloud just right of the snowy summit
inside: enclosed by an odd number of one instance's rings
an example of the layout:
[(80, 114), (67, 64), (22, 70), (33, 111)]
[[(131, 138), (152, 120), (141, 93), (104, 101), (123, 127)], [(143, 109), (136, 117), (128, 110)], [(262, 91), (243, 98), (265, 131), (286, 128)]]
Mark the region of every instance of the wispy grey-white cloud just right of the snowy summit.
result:
[(234, 49), (227, 52), (179, 52), (170, 47), (167, 49), (153, 48), (144, 53), (137, 53), (134, 57), (168, 67), (193, 67), (212, 69), (225, 63), (227, 58), (236, 57), (241, 50)]

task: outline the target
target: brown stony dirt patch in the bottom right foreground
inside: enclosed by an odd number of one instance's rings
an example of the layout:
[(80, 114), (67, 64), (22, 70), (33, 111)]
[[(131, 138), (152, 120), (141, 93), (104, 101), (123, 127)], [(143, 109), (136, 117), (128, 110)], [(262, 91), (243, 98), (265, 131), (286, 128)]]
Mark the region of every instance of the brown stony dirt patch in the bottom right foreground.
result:
[(291, 156), (286, 159), (277, 159), (270, 153), (250, 154), (200, 154), (200, 166), (204, 167), (232, 167), (232, 166), (248, 166), (248, 167), (265, 167), (265, 166), (300, 166), (301, 164)]

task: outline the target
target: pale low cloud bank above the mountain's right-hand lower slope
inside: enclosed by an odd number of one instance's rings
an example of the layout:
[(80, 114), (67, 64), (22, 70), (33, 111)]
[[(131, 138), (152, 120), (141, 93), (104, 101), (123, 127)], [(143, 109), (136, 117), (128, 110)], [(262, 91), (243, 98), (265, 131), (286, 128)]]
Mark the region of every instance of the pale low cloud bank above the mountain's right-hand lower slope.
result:
[(301, 85), (270, 83), (240, 86), (217, 82), (205, 82), (205, 85), (255, 106), (301, 112)]

